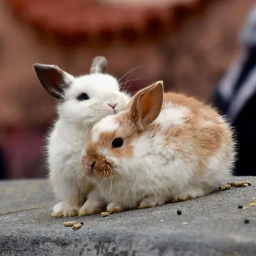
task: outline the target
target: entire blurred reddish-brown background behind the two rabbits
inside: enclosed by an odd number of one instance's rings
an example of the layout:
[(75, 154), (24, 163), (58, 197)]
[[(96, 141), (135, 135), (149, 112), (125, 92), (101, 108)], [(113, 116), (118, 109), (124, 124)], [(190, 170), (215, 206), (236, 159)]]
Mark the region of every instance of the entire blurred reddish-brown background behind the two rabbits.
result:
[[(161, 79), (166, 90), (194, 95), (228, 115), (230, 108), (221, 92), (235, 83), (236, 88), (242, 88), (248, 72), (256, 67), (256, 58), (251, 65), (246, 62), (247, 50), (239, 40), (254, 3), (255, 0), (1, 0), (0, 179), (46, 174), (42, 148), (56, 115), (56, 101), (38, 82), (33, 63), (56, 64), (78, 75), (89, 71), (93, 57), (105, 56), (107, 72), (116, 77), (134, 69), (121, 80), (131, 92)], [(255, 31), (252, 33), (256, 38)], [(237, 61), (240, 69), (232, 66)], [(244, 63), (247, 69), (243, 69)], [(241, 70), (249, 71), (244, 74)], [(233, 80), (227, 78), (231, 73), (236, 74)], [(253, 81), (256, 85), (256, 79)], [(233, 99), (228, 100), (231, 104)], [(246, 129), (255, 119), (253, 106), (250, 105), (247, 126), (246, 120), (236, 119), (244, 104), (235, 111), (236, 115), (234, 111), (230, 115), (232, 124), (238, 127), (237, 134), (241, 123), (242, 133), (248, 134)], [(255, 131), (256, 126), (252, 134)], [(240, 136), (239, 140), (244, 139)], [(248, 141), (244, 144), (245, 158), (236, 166), (237, 175), (256, 175), (253, 165), (246, 170), (243, 165), (248, 163), (247, 151), (252, 159), (256, 153), (254, 142), (251, 138), (252, 145)]]

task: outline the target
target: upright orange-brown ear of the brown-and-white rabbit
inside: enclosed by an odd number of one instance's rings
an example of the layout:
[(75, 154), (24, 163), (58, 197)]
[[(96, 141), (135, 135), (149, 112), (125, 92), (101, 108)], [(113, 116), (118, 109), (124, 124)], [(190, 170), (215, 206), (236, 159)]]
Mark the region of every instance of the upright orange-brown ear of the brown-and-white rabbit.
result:
[(157, 81), (140, 90), (132, 99), (131, 120), (142, 131), (156, 120), (163, 105), (163, 81)]

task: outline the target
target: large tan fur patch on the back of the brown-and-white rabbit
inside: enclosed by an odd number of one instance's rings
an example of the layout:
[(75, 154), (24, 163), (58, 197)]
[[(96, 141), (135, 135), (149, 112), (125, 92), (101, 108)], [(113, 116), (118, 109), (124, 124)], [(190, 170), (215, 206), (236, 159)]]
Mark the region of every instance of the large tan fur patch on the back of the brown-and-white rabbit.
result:
[(211, 107), (199, 102), (193, 97), (186, 97), (177, 93), (165, 93), (164, 103), (172, 102), (174, 106), (186, 107), (189, 113), (184, 118), (184, 124), (168, 128), (164, 134), (166, 145), (172, 143), (176, 146), (180, 157), (186, 161), (191, 160), (191, 154), (185, 150), (184, 145), (189, 142), (196, 157), (198, 157), (197, 171), (204, 170), (209, 157), (214, 156), (221, 145), (232, 144), (232, 134), (227, 124)]

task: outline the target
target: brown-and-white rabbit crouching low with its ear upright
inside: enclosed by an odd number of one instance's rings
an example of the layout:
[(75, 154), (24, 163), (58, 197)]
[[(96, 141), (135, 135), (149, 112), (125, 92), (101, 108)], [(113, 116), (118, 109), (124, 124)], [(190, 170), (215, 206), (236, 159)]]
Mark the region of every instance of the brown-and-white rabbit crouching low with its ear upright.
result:
[(81, 160), (97, 189), (87, 204), (120, 212), (204, 196), (232, 177), (235, 155), (223, 116), (158, 81), (88, 132)]

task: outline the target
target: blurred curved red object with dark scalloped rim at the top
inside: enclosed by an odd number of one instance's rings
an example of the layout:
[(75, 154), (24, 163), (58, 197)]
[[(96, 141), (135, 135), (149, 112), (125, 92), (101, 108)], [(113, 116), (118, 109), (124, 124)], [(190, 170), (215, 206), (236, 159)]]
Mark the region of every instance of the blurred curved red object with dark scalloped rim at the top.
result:
[[(198, 4), (211, 0), (159, 0), (136, 1), (136, 5), (125, 6), (124, 1), (95, 0), (8, 0), (20, 17), (29, 24), (54, 36), (67, 38), (111, 40), (114, 37), (131, 40), (135, 35), (147, 35), (149, 31), (161, 33), (161, 29), (172, 29), (176, 10), (193, 9)], [(109, 5), (110, 4), (110, 5)], [(164, 5), (163, 5), (164, 4)], [(180, 17), (179, 17), (180, 19)]]

